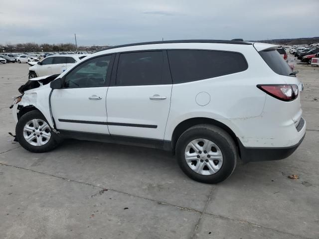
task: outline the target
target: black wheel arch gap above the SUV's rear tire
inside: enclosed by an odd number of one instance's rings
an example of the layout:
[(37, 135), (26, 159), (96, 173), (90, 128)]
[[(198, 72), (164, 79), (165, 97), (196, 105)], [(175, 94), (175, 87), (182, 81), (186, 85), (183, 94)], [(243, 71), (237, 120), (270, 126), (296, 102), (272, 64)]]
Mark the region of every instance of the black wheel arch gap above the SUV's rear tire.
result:
[(234, 142), (238, 148), (238, 153), (240, 156), (240, 148), (238, 145), (238, 140), (237, 140), (236, 134), (226, 124), (224, 124), (220, 121), (217, 121), (215, 119), (209, 119), (209, 118), (192, 118), (192, 119), (186, 119), (186, 120), (180, 122), (175, 127), (175, 129), (173, 131), (173, 135), (172, 135), (171, 147), (172, 147), (173, 152), (175, 151), (175, 145), (176, 145), (177, 139), (186, 129), (188, 129), (196, 124), (203, 124), (203, 123), (216, 125), (222, 129), (224, 129), (227, 133), (229, 133), (229, 135), (232, 137), (232, 139), (234, 140)]

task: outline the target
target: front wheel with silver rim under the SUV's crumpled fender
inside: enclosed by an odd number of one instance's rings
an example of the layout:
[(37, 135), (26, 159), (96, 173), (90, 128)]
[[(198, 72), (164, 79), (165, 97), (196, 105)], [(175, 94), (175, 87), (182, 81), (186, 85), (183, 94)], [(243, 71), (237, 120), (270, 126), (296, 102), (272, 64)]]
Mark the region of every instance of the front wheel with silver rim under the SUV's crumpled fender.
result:
[[(42, 126), (43, 130), (40, 127), (38, 128), (38, 125)], [(27, 128), (27, 130), (24, 128)], [(15, 134), (20, 145), (34, 153), (50, 151), (58, 146), (60, 142), (60, 137), (52, 132), (47, 120), (38, 110), (30, 111), (18, 120), (15, 126)], [(26, 138), (30, 140), (27, 141)]]

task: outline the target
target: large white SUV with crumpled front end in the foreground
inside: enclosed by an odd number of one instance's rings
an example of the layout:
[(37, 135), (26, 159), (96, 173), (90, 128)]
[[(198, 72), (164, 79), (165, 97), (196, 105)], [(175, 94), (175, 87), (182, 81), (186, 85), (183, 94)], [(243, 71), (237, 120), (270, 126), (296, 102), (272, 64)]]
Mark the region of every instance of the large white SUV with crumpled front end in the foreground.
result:
[[(190, 178), (220, 182), (237, 158), (286, 158), (305, 136), (301, 82), (276, 48), (184, 40), (96, 52), (20, 87), (16, 139), (32, 152), (62, 138), (161, 148)], [(42, 86), (32, 89), (34, 81)]]

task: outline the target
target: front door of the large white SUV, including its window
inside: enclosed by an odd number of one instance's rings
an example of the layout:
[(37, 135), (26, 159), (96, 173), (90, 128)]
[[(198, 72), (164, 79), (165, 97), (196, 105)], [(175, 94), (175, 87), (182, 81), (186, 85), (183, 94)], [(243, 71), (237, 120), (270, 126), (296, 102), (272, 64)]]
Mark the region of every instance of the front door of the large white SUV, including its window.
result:
[(51, 96), (57, 129), (109, 134), (106, 93), (112, 59), (112, 55), (89, 59), (63, 77), (64, 88), (53, 90)]

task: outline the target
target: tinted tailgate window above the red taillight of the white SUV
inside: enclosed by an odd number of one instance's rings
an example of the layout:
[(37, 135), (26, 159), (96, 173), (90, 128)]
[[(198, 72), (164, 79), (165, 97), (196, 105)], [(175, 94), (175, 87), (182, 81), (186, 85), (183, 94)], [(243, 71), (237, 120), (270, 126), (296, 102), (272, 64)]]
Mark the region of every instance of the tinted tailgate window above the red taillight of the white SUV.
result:
[(284, 58), (279, 54), (277, 50), (260, 51), (259, 54), (267, 63), (267, 65), (277, 74), (283, 76), (290, 76), (290, 73), (293, 72), (290, 66), (287, 64), (287, 62), (284, 60)]

